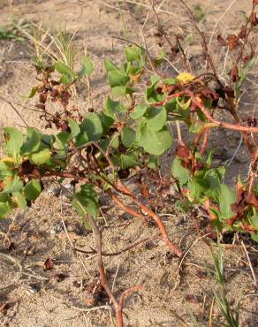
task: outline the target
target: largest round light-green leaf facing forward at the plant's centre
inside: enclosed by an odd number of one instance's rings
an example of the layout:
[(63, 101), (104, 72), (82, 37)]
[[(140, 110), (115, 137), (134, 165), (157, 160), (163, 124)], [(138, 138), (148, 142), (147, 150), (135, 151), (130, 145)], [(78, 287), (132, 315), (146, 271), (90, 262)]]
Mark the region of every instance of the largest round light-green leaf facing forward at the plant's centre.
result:
[(161, 156), (165, 150), (171, 148), (171, 133), (166, 126), (160, 131), (154, 131), (143, 125), (140, 128), (140, 146), (150, 155)]

